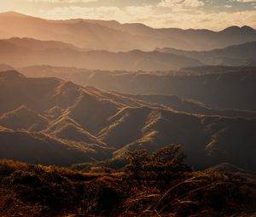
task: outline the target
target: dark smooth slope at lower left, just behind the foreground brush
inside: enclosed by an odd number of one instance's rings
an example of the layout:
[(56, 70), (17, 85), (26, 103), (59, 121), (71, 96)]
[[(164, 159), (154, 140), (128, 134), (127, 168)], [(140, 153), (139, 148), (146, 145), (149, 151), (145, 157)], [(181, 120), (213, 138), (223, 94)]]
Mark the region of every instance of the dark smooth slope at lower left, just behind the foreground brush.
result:
[(75, 148), (67, 142), (46, 134), (2, 129), (0, 131), (1, 159), (26, 163), (68, 166), (90, 160), (93, 152)]

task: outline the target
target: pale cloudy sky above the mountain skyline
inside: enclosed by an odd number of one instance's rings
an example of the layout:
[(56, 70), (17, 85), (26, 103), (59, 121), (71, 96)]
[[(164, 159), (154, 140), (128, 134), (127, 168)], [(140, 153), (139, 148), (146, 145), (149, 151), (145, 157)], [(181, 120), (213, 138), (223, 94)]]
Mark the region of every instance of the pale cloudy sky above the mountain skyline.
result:
[(0, 0), (0, 12), (5, 11), (49, 20), (140, 22), (156, 28), (256, 28), (256, 0)]

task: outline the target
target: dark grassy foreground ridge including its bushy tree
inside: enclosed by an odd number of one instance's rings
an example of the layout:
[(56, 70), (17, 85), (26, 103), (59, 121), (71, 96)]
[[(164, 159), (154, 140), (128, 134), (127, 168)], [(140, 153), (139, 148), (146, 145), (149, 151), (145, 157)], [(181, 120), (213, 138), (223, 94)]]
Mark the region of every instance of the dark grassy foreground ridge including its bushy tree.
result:
[[(131, 152), (119, 173), (0, 162), (1, 216), (253, 216), (255, 174), (191, 170), (178, 146)], [(230, 166), (231, 168), (231, 166)], [(243, 170), (242, 170), (243, 171)]]

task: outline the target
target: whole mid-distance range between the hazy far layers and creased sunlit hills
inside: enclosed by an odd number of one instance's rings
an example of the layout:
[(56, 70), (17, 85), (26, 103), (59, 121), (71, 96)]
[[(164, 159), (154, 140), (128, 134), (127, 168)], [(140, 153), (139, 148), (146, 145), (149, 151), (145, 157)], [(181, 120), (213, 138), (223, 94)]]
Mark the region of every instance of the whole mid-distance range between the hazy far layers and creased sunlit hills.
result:
[(59, 77), (84, 87), (160, 95), (154, 96), (152, 102), (164, 104), (171, 100), (168, 95), (176, 95), (219, 109), (256, 110), (256, 68), (250, 66), (200, 66), (163, 73), (90, 71), (55, 66), (29, 66), (19, 71), (27, 77)]

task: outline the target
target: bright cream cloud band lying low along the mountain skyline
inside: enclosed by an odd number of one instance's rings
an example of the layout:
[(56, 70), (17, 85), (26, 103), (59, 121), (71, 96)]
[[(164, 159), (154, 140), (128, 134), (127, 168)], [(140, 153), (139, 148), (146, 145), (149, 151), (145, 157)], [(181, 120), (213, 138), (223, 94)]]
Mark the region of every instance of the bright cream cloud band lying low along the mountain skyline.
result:
[(41, 16), (47, 19), (84, 18), (96, 20), (118, 20), (122, 23), (143, 22), (153, 27), (208, 28), (221, 30), (228, 26), (256, 26), (256, 11), (212, 12), (203, 9), (195, 11), (162, 11), (153, 5), (119, 7), (67, 6), (44, 10)]

